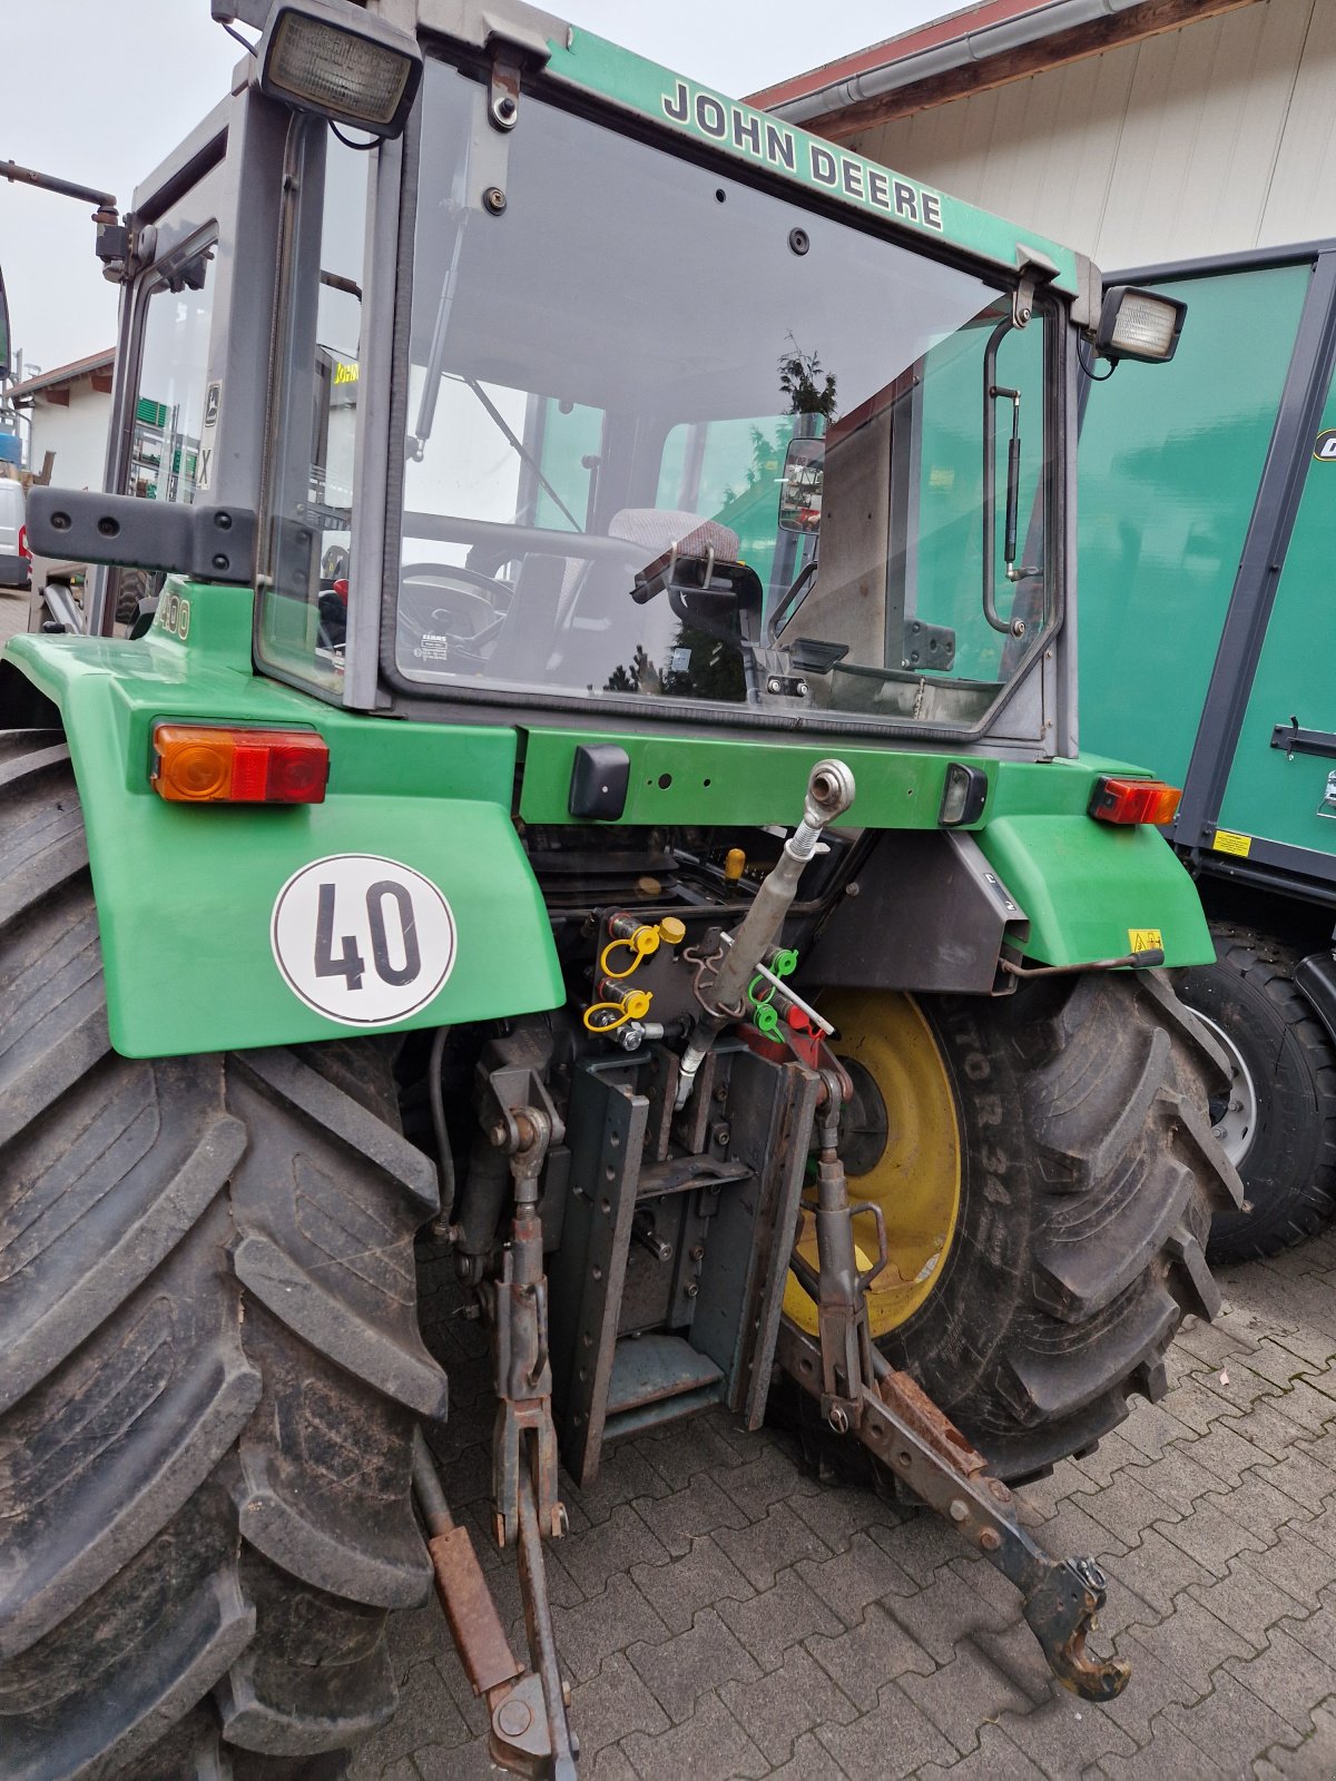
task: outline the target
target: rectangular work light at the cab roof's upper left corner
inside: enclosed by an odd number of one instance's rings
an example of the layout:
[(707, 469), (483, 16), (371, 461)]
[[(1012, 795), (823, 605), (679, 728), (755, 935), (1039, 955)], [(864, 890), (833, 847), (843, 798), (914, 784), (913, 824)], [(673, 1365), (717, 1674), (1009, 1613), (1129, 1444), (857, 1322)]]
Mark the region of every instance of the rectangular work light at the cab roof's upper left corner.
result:
[(269, 98), (372, 135), (399, 135), (422, 78), (406, 32), (347, 0), (278, 0), (258, 48)]

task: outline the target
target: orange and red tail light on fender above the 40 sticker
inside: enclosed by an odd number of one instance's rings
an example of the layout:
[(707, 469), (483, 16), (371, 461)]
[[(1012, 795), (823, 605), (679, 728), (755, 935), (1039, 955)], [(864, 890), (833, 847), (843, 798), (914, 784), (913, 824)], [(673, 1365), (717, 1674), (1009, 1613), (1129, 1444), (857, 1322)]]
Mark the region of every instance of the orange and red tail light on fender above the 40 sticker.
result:
[(150, 784), (171, 803), (324, 803), (330, 744), (314, 730), (155, 723)]

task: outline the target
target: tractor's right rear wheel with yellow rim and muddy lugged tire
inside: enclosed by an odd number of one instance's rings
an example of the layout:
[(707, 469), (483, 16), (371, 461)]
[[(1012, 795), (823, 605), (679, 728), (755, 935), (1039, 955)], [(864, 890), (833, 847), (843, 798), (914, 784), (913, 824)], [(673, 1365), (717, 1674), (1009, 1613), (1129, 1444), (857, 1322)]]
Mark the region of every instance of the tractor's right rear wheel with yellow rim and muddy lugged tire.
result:
[[(821, 1010), (853, 1065), (850, 1193), (887, 1222), (878, 1348), (1005, 1478), (1092, 1448), (1131, 1393), (1163, 1395), (1183, 1314), (1218, 1307), (1202, 1248), (1238, 1199), (1204, 1111), (1218, 1056), (1160, 972)], [(814, 1329), (796, 1282), (786, 1309)]]

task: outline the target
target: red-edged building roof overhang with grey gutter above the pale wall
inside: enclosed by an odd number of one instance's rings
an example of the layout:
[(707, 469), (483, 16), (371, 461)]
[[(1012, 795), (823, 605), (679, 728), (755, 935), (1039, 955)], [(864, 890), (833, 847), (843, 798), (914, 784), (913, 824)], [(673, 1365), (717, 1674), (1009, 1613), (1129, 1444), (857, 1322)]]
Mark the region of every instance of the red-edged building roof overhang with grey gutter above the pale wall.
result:
[(752, 94), (752, 105), (827, 135), (1083, 55), (1177, 30), (1256, 0), (978, 0)]

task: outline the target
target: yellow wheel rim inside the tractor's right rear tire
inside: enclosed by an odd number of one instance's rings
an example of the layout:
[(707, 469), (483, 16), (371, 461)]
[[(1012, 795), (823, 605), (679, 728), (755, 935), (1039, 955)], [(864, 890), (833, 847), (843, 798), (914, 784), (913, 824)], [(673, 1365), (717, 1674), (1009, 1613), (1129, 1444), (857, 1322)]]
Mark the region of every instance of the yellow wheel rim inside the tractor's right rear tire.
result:
[[(860, 1063), (887, 1115), (885, 1151), (862, 1175), (850, 1175), (850, 1199), (882, 1208), (889, 1263), (868, 1289), (873, 1339), (898, 1329), (937, 1284), (960, 1211), (960, 1124), (951, 1081), (928, 1022), (908, 996), (839, 990), (821, 1001), (839, 1029), (835, 1053)], [(876, 1225), (855, 1215), (859, 1266), (876, 1259)], [(798, 1254), (816, 1272), (816, 1231), (803, 1213)], [(816, 1332), (816, 1305), (789, 1273), (784, 1311)]]

